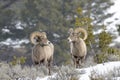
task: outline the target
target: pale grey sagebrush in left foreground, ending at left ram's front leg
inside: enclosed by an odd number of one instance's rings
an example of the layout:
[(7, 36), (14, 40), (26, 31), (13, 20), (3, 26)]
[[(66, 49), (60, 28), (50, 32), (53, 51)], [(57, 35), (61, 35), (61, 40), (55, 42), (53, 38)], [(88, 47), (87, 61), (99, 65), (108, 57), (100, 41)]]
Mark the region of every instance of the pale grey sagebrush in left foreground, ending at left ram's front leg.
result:
[(0, 63), (0, 80), (35, 80), (37, 76), (47, 75), (45, 66), (21, 66), (19, 64), (11, 66), (7, 63)]

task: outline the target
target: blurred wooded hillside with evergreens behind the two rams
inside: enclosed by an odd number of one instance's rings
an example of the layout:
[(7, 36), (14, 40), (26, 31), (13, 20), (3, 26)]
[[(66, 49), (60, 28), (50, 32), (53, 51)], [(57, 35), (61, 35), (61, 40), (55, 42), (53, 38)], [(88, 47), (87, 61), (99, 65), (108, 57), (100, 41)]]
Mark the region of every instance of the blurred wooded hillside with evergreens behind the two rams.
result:
[[(55, 45), (54, 64), (70, 64), (67, 32), (78, 26), (88, 31), (88, 56), (97, 63), (109, 61), (106, 55), (120, 54), (120, 46), (109, 47), (116, 36), (106, 32), (103, 24), (113, 15), (106, 12), (111, 5), (110, 0), (0, 0), (0, 42), (12, 40), (9, 45), (0, 44), (0, 61), (31, 65), (33, 45), (29, 42), (29, 35), (33, 31), (45, 31)], [(103, 32), (94, 34), (100, 29)], [(14, 41), (19, 43), (22, 40), (28, 43), (13, 47)]]

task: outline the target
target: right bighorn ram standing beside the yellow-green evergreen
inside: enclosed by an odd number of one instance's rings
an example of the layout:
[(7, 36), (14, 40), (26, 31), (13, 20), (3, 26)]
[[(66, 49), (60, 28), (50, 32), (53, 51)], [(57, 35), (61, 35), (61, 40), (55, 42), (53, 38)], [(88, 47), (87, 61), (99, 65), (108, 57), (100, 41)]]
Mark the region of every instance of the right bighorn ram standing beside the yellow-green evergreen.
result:
[[(70, 53), (74, 62), (75, 67), (79, 67), (81, 63), (83, 63), (86, 54), (87, 47), (85, 41), (87, 39), (87, 31), (83, 28), (73, 28), (69, 29), (69, 37), (68, 41), (70, 43)], [(80, 38), (80, 32), (84, 34), (84, 38)]]

